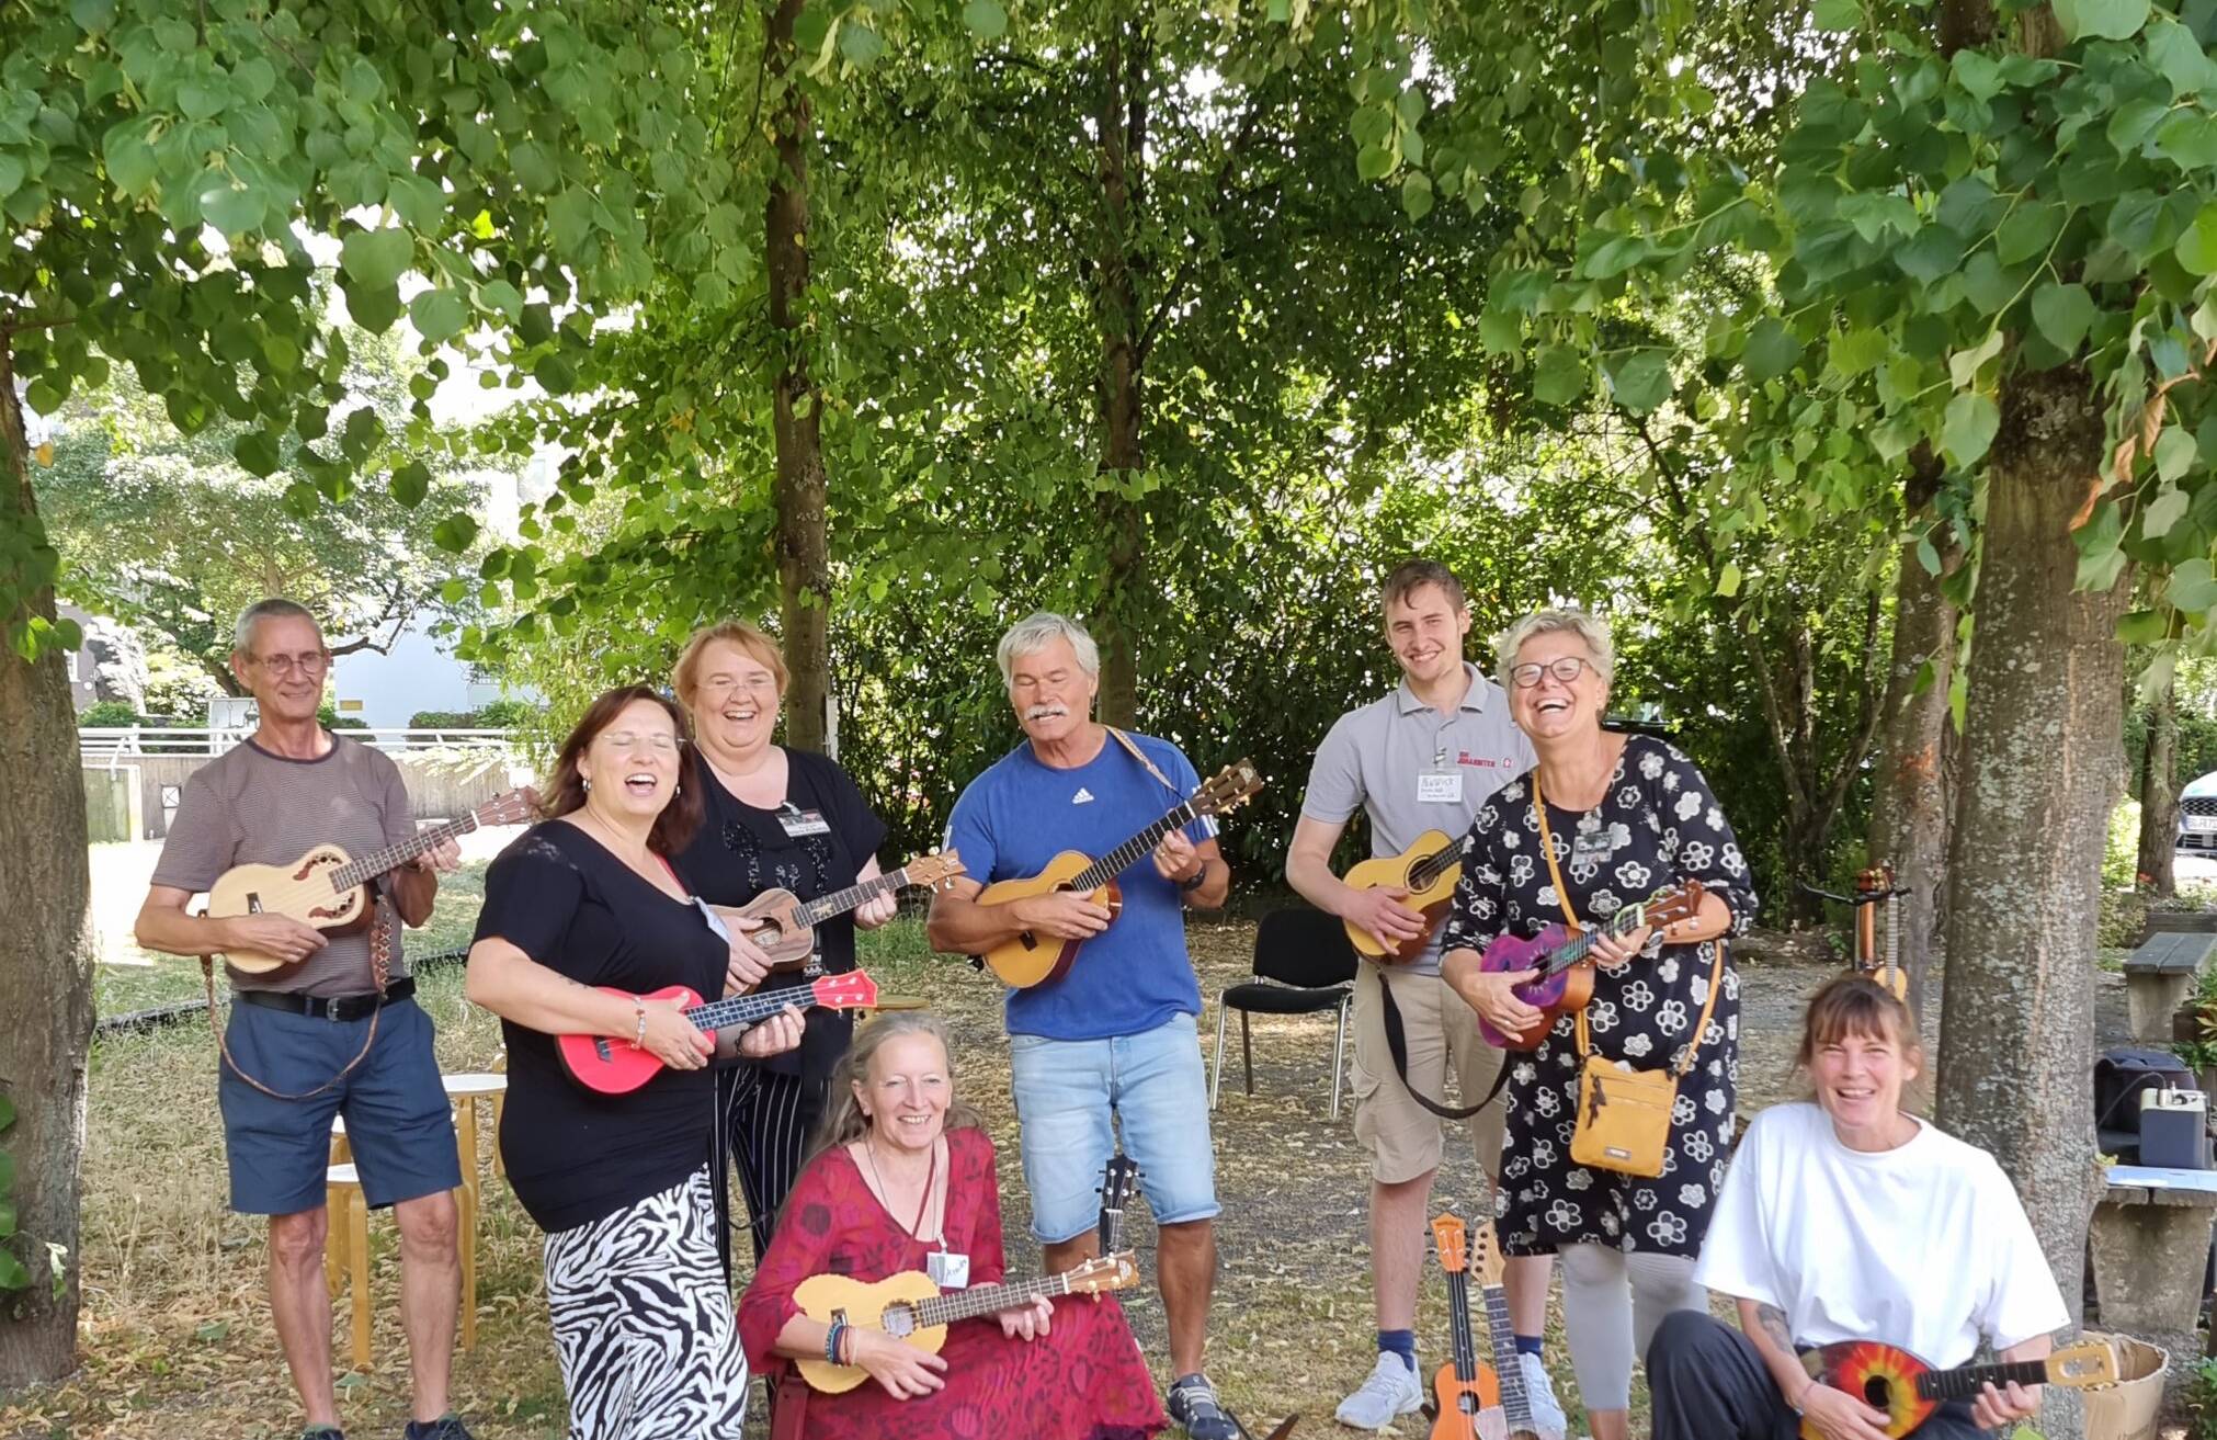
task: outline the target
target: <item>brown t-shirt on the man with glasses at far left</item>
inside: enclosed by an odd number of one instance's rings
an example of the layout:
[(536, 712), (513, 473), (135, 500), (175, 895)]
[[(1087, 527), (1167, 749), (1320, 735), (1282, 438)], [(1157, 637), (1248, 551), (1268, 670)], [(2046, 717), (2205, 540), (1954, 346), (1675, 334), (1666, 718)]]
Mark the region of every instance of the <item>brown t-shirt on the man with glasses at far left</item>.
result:
[[(233, 865), (288, 865), (315, 845), (364, 856), (415, 839), (401, 768), (381, 750), (333, 734), (321, 759), (295, 761), (246, 741), (193, 772), (153, 868), (155, 885), (204, 892)], [(233, 990), (368, 994), (370, 932), (324, 932), (299, 965), (231, 970)], [(392, 936), (392, 976), (408, 974)]]

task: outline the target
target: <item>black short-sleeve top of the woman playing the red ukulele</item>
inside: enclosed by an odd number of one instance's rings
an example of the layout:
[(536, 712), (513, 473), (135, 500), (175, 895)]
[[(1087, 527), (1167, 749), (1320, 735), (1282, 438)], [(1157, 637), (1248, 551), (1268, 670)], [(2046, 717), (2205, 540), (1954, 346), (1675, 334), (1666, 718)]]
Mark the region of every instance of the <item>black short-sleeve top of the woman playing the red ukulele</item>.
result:
[[(492, 861), (477, 939), (492, 936), (581, 985), (630, 994), (687, 985), (714, 1001), (729, 963), (696, 903), (665, 894), (568, 821), (525, 830)], [(590, 1225), (707, 1163), (709, 1069), (663, 1069), (630, 1094), (603, 1096), (570, 1078), (554, 1036), (514, 1021), (501, 1021), (501, 1160), (541, 1229)]]

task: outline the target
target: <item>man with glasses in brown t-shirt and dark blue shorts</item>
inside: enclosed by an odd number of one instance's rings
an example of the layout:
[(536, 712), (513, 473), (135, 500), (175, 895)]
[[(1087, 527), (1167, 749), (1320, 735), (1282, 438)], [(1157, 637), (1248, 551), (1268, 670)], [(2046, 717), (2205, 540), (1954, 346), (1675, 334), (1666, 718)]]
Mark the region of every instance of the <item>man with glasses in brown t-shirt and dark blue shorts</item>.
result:
[[(262, 952), (277, 970), (231, 970), (231, 1021), (217, 1098), (231, 1207), (270, 1225), (270, 1316), (308, 1411), (304, 1440), (341, 1440), (324, 1289), (324, 1167), (330, 1120), (372, 1207), (401, 1234), (401, 1329), (415, 1382), (406, 1440), (468, 1440), (446, 1407), (461, 1289), (452, 1189), (461, 1185), (430, 1018), (399, 954), (399, 921), (421, 925), (452, 870), (452, 841), (372, 881), (370, 925), (321, 932), (284, 914), (211, 919), (186, 901), (233, 865), (284, 865), (321, 843), (370, 854), (415, 839), (399, 768), (317, 721), (330, 650), (315, 617), (264, 599), (239, 615), (231, 672), (259, 708), (257, 730), (193, 772), (137, 916), (137, 941), (168, 954)], [(397, 914), (397, 921), (395, 921)], [(379, 994), (372, 947), (390, 978)]]

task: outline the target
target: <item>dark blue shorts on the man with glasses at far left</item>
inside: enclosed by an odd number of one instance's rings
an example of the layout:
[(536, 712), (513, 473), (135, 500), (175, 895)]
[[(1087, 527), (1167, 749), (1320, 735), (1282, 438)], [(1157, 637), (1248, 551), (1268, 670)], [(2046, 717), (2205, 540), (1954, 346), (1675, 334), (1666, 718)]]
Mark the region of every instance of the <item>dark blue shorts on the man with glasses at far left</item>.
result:
[[(370, 1021), (319, 1021), (262, 1005), (233, 1005), (224, 1043), (270, 1089), (302, 1094), (346, 1069)], [(454, 1116), (430, 1049), (432, 1023), (415, 998), (386, 1005), (377, 1041), (355, 1072), (306, 1101), (279, 1101), (217, 1061), (231, 1209), (290, 1216), (324, 1207), (330, 1116), (346, 1116), (361, 1196), (372, 1207), (461, 1185)]]

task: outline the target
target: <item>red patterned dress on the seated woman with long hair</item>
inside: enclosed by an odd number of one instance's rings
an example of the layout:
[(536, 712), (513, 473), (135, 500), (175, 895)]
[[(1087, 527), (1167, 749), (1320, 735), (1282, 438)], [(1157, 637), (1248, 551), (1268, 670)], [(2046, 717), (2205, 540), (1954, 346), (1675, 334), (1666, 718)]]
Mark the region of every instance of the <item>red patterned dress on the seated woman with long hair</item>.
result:
[[(998, 1285), (1000, 1178), (993, 1140), (980, 1129), (947, 1132), (947, 1249), (971, 1260), (971, 1287)], [(778, 1214), (754, 1282), (738, 1300), (738, 1336), (747, 1362), (772, 1385), (787, 1360), (772, 1353), (778, 1331), (800, 1309), (794, 1289), (809, 1276), (838, 1274), (882, 1280), (924, 1269), (924, 1245), (893, 1216), (854, 1167), (845, 1145), (816, 1156)], [(944, 1389), (916, 1400), (893, 1400), (876, 1380), (842, 1396), (809, 1391), (809, 1440), (1140, 1440), (1166, 1429), (1155, 1380), (1140, 1358), (1115, 1296), (1064, 1296), (1038, 1340), (1011, 1340), (991, 1318), (960, 1320), (947, 1329)]]

